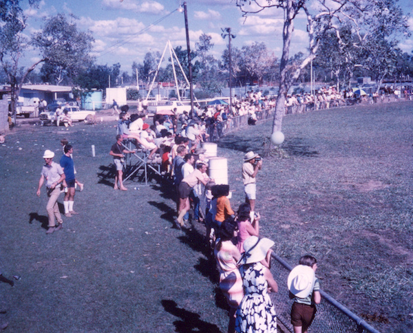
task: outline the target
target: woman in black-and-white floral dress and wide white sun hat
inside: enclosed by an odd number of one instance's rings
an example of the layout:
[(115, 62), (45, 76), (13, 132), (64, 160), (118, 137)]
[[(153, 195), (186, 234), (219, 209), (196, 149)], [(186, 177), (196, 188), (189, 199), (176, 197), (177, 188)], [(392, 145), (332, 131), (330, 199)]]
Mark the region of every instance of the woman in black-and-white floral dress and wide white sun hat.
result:
[(268, 292), (277, 292), (278, 286), (270, 271), (271, 247), (268, 238), (251, 236), (244, 241), (240, 273), (244, 298), (237, 309), (235, 331), (239, 333), (276, 333), (277, 314)]

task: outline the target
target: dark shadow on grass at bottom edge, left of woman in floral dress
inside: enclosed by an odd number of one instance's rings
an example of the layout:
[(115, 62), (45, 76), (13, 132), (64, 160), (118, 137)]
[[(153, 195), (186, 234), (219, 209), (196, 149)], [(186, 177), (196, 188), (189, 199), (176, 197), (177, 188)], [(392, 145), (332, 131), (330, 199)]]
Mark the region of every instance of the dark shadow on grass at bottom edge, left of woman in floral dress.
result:
[(187, 311), (182, 308), (178, 308), (175, 301), (168, 299), (162, 299), (162, 306), (167, 312), (180, 318), (178, 321), (173, 321), (176, 332), (191, 333), (191, 332), (204, 332), (204, 333), (220, 333), (220, 329), (217, 325), (207, 323), (200, 320), (200, 315)]

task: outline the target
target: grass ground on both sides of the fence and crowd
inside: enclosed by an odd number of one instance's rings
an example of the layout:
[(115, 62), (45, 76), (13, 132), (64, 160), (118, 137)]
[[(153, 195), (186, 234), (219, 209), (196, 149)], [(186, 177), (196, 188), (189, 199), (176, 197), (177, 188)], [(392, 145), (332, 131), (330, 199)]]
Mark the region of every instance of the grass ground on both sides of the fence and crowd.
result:
[[(265, 158), (257, 176), (261, 234), (275, 252), (292, 265), (315, 255), (322, 288), (382, 332), (413, 330), (412, 125), (412, 103), (286, 116), (288, 157)], [(244, 200), (243, 155), (262, 153), (270, 131), (268, 122), (220, 142), (233, 208)], [(98, 178), (114, 134), (114, 122), (28, 126), (0, 146), (1, 270), (21, 276), (0, 284), (0, 319), (10, 332), (225, 332), (202, 226), (171, 228), (168, 188), (129, 182), (121, 192)], [(45, 235), (45, 189), (35, 192), (43, 151), (59, 160), (61, 138), (85, 190), (80, 215)]]

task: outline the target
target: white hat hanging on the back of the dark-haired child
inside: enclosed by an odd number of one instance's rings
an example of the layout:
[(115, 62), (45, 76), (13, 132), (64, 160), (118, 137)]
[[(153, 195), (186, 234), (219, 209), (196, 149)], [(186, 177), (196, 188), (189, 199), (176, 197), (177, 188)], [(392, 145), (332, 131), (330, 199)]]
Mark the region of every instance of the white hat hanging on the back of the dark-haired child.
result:
[(288, 290), (290, 290), (295, 297), (299, 297), (300, 299), (308, 297), (310, 292), (313, 291), (314, 283), (315, 272), (310, 266), (295, 266), (288, 275)]

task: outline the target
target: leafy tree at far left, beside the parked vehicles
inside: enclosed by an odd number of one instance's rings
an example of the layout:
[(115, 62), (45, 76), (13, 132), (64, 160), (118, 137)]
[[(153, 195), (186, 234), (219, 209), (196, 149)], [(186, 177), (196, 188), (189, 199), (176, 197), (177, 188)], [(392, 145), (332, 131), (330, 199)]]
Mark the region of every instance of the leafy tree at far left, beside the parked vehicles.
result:
[[(38, 2), (29, 1), (32, 6)], [(86, 64), (85, 59), (88, 58), (93, 40), (88, 33), (78, 32), (76, 25), (68, 23), (62, 14), (48, 19), (44, 30), (29, 37), (25, 32), (27, 17), (20, 4), (18, 0), (3, 0), (0, 6), (0, 65), (10, 84), (10, 104), (14, 115), (21, 87), (37, 65), (47, 61), (62, 69), (74, 69), (76, 63), (81, 67), (79, 63)], [(50, 22), (54, 22), (54, 28), (48, 26)], [(32, 52), (37, 52), (39, 60), (22, 69), (19, 63), (30, 48)]]

